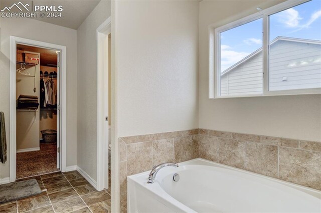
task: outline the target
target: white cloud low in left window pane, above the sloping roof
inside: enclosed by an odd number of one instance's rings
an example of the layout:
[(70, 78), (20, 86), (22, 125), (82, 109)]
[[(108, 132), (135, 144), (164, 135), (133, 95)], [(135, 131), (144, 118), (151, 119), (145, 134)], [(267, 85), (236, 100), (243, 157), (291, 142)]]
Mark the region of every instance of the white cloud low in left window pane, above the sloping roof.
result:
[(239, 62), (250, 53), (231, 50), (228, 45), (221, 45), (221, 72)]

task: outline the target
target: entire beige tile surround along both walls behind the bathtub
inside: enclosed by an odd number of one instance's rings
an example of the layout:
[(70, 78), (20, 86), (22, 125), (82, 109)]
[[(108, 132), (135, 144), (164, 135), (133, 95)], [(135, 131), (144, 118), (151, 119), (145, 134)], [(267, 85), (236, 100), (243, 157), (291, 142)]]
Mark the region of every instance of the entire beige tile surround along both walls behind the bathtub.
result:
[(127, 175), (162, 162), (201, 157), (321, 190), (321, 142), (191, 129), (120, 137), (121, 210), (126, 212)]

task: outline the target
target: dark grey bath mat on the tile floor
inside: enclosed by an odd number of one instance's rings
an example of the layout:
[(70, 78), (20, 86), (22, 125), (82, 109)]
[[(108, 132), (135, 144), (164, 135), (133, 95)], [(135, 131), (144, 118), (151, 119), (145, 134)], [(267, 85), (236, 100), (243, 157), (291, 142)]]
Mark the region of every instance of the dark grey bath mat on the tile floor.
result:
[(40, 194), (41, 189), (36, 179), (28, 179), (0, 185), (0, 203)]

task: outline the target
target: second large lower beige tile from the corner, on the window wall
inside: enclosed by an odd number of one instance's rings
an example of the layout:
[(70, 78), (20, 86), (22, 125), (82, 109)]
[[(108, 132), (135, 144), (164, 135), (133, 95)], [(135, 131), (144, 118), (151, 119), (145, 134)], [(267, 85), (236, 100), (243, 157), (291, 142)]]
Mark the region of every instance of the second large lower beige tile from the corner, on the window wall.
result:
[(234, 166), (237, 168), (244, 168), (245, 162), (245, 142), (220, 138), (220, 152), (219, 161), (220, 163)]

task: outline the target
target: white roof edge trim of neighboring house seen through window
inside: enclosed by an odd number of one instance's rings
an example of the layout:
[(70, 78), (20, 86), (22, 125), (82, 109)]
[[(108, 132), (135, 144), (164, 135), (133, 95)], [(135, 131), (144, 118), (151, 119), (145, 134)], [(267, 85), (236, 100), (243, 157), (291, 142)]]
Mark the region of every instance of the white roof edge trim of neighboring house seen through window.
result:
[[(302, 38), (294, 38), (294, 37), (283, 37), (283, 36), (277, 36), (276, 38), (274, 38), (271, 42), (270, 45), (273, 45), (274, 43), (276, 43), (279, 40), (286, 40), (286, 41), (292, 41), (292, 42), (302, 42), (302, 43), (314, 43), (314, 44), (321, 44), (321, 41), (319, 40), (310, 40), (310, 39), (302, 39)], [(252, 52), (251, 54), (249, 54), (248, 56), (246, 56), (245, 58), (243, 58), (242, 60), (240, 60), (239, 62), (235, 63), (234, 65), (230, 66), (229, 68), (225, 69), (222, 73), (221, 76), (230, 72), (231, 70), (233, 70), (234, 68), (236, 68), (237, 66), (241, 65), (242, 63), (244, 63), (245, 61), (251, 59), (253, 56), (257, 55), (258, 53), (260, 53), (262, 51), (262, 47), (255, 50), (254, 52)]]

